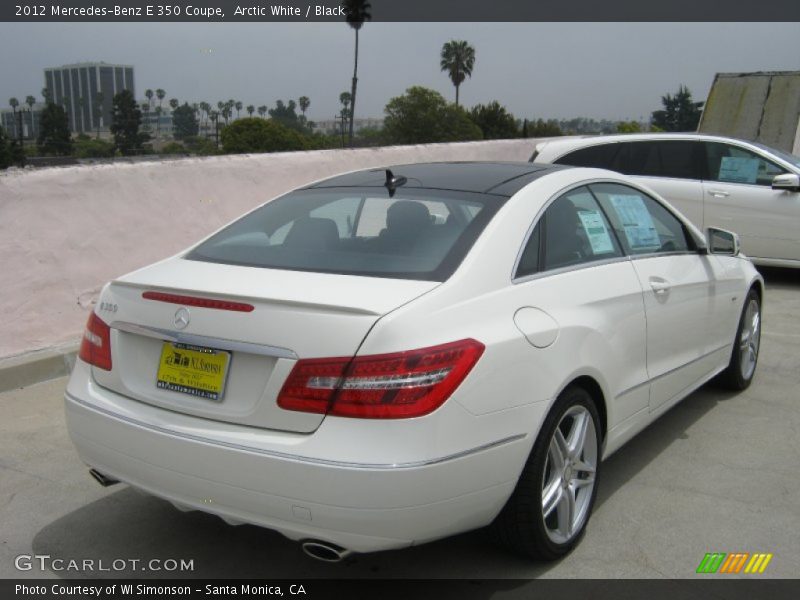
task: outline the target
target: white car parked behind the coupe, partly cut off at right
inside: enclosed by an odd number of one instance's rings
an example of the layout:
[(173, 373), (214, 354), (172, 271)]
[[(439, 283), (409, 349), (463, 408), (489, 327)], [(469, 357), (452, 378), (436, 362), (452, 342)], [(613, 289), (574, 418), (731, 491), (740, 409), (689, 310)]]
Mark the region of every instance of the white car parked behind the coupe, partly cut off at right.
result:
[(531, 161), (634, 177), (701, 229), (731, 229), (754, 263), (800, 267), (800, 158), (763, 144), (650, 133), (543, 142)]

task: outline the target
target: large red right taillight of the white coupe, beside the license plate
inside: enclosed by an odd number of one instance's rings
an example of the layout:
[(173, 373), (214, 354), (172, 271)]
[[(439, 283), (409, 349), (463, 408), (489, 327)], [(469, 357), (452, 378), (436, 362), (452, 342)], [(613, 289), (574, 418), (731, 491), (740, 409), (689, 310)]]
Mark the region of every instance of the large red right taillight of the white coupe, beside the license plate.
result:
[(408, 352), (297, 361), (278, 395), (287, 410), (364, 419), (439, 408), (483, 354), (472, 339)]

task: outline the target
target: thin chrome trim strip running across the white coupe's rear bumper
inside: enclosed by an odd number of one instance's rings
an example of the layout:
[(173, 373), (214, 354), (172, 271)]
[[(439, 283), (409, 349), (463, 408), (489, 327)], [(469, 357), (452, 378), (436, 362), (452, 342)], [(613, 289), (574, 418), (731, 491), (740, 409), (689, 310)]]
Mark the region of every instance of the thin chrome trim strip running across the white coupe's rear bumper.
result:
[(520, 433), (517, 435), (512, 435), (501, 440), (497, 440), (494, 442), (489, 442), (488, 444), (483, 444), (481, 446), (477, 446), (475, 448), (471, 448), (469, 450), (463, 450), (461, 452), (456, 452), (454, 454), (448, 454), (447, 456), (440, 456), (437, 458), (431, 458), (428, 460), (422, 460), (417, 462), (407, 462), (407, 463), (356, 463), (356, 462), (347, 462), (347, 461), (338, 461), (338, 460), (327, 460), (324, 458), (312, 458), (309, 456), (298, 456), (296, 454), (287, 454), (284, 452), (277, 452), (274, 450), (263, 450), (261, 448), (253, 448), (251, 446), (243, 446), (241, 444), (234, 444), (231, 442), (223, 442), (220, 440), (214, 440), (206, 437), (202, 437), (199, 435), (192, 435), (190, 433), (181, 433), (177, 431), (173, 431), (171, 429), (166, 429), (164, 427), (159, 427), (158, 425), (151, 425), (149, 423), (144, 423), (137, 419), (132, 419), (130, 417), (119, 415), (115, 412), (107, 410), (105, 408), (100, 408), (99, 406), (93, 406), (88, 402), (73, 396), (69, 392), (64, 392), (64, 396), (67, 400), (70, 400), (83, 408), (88, 410), (92, 410), (94, 412), (102, 413), (112, 419), (116, 419), (118, 421), (124, 421), (131, 425), (135, 425), (136, 427), (141, 427), (142, 429), (148, 429), (150, 431), (155, 431), (157, 433), (162, 433), (165, 435), (170, 435), (172, 437), (179, 437), (183, 439), (187, 439), (193, 442), (200, 442), (203, 444), (210, 444), (212, 446), (223, 446), (225, 448), (230, 448), (232, 450), (241, 450), (244, 452), (253, 452), (255, 454), (262, 454), (264, 456), (269, 456), (272, 458), (278, 458), (282, 460), (291, 460), (294, 462), (302, 462), (314, 465), (324, 465), (328, 467), (341, 467), (346, 469), (376, 469), (376, 470), (390, 470), (390, 469), (414, 469), (419, 467), (427, 467), (430, 465), (437, 465), (440, 463), (448, 462), (451, 460), (456, 460), (459, 458), (463, 458), (465, 456), (469, 456), (471, 454), (477, 454), (478, 452), (483, 452), (485, 450), (491, 450), (492, 448), (496, 448), (498, 446), (503, 446), (505, 444), (509, 444), (511, 442), (516, 442), (518, 440), (523, 439), (526, 434)]

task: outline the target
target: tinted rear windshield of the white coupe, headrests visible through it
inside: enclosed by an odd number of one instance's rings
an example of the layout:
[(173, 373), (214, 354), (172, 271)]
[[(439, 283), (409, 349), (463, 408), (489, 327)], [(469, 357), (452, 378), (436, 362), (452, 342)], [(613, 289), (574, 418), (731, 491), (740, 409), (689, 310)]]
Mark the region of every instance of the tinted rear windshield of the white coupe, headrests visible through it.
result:
[(444, 281), (505, 197), (385, 188), (299, 190), (245, 215), (185, 258)]

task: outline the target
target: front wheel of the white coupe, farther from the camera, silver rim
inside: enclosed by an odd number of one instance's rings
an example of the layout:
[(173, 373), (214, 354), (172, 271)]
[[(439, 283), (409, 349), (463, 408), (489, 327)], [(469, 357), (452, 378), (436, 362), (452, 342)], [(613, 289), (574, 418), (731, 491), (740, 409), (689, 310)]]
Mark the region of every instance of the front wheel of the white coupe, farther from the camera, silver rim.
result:
[(736, 329), (736, 338), (727, 368), (719, 374), (717, 381), (731, 390), (750, 387), (758, 365), (761, 347), (761, 300), (751, 289), (742, 307), (742, 316)]

